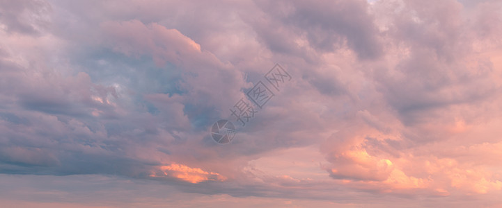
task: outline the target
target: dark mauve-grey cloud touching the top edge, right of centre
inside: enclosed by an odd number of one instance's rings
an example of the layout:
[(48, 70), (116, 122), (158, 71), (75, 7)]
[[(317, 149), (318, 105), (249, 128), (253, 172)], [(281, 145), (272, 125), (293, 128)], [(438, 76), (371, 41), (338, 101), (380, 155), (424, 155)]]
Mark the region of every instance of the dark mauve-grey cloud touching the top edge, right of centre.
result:
[[(310, 46), (319, 52), (335, 51), (347, 44), (363, 60), (382, 55), (378, 31), (367, 12), (366, 1), (260, 1), (258, 6), (272, 17), (272, 23), (278, 21), (280, 24), (275, 24), (281, 25), (256, 28), (259, 34), (264, 34), (260, 37), (269, 46), (282, 43), (280, 47), (271, 47), (274, 51), (293, 51), (288, 48), (295, 45), (294, 39), (306, 35)], [(267, 31), (278, 29), (288, 33), (266, 35)]]

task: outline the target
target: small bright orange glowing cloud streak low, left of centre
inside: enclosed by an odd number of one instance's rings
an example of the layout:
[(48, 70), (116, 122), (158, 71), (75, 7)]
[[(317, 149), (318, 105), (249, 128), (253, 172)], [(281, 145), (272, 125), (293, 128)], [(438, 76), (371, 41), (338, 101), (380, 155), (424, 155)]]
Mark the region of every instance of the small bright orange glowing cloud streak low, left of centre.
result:
[(209, 180), (224, 181), (227, 178), (219, 173), (203, 171), (201, 168), (191, 168), (183, 164), (170, 164), (159, 166), (157, 171), (152, 172), (150, 177), (176, 177), (180, 180), (197, 184)]

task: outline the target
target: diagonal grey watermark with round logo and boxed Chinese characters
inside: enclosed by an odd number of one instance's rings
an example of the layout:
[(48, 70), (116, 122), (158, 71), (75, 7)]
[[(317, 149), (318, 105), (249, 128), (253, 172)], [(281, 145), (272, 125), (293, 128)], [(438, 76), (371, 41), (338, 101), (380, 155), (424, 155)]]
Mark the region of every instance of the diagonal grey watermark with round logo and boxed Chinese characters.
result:
[[(271, 89), (279, 92), (283, 84), (291, 80), (288, 71), (285, 71), (279, 64), (276, 64), (268, 73), (265, 73), (263, 78), (267, 82), (258, 81), (253, 88), (246, 92), (246, 98), (240, 98), (230, 108), (230, 116), (233, 116), (235, 122), (240, 123), (243, 127), (258, 113), (257, 108), (262, 109), (276, 96)], [(233, 123), (225, 119), (215, 122), (211, 128), (212, 139), (219, 144), (227, 144), (232, 141), (235, 133), (236, 130)]]

